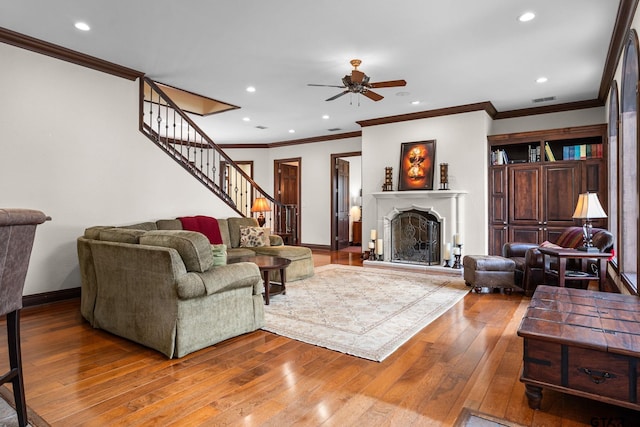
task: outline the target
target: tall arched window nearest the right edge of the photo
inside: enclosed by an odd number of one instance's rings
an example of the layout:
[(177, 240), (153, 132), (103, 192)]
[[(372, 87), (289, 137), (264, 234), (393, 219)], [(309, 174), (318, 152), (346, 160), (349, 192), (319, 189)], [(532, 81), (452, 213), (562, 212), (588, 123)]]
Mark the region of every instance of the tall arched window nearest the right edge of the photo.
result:
[(618, 254), (623, 281), (638, 289), (638, 35), (629, 32), (622, 64), (622, 141), (618, 150)]

